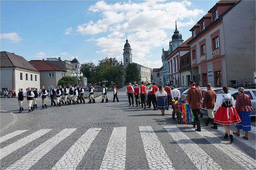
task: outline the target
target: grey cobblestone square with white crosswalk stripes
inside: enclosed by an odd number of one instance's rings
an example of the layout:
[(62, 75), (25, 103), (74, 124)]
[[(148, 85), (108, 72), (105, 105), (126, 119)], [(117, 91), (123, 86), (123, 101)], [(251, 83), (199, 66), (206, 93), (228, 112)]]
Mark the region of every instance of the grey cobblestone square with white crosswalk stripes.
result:
[[(0, 169), (255, 169), (255, 127), (250, 140), (223, 138), (222, 127), (172, 119), (153, 108), (128, 106), (125, 89), (120, 102), (49, 107), (18, 114), (17, 99), (1, 99), (1, 110), (18, 121), (1, 132)], [(50, 100), (46, 100), (49, 105)], [(232, 130), (235, 130), (231, 126)]]

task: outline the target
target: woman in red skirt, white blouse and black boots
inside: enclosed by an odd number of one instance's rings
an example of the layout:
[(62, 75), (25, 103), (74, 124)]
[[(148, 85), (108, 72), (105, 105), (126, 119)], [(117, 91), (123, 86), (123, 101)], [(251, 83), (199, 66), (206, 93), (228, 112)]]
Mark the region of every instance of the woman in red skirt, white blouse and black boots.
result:
[(216, 111), (214, 122), (222, 124), (226, 130), (225, 139), (230, 137), (230, 142), (234, 142), (234, 137), (231, 135), (229, 125), (241, 122), (239, 115), (234, 107), (234, 98), (228, 94), (228, 87), (223, 87), (221, 94), (217, 96), (213, 111)]

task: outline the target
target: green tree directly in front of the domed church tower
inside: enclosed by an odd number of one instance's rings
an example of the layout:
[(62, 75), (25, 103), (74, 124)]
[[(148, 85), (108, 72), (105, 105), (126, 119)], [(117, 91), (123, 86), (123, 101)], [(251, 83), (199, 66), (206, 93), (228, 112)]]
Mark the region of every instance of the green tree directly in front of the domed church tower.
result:
[(126, 83), (132, 83), (134, 81), (140, 81), (140, 71), (137, 68), (136, 63), (130, 63), (125, 69), (125, 81)]

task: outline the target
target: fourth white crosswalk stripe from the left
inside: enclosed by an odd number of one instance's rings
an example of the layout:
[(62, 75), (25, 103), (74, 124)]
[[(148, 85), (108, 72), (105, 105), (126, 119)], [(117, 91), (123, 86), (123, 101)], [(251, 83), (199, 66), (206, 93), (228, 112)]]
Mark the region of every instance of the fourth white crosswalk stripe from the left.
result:
[(62, 156), (52, 169), (76, 169), (101, 128), (88, 129)]

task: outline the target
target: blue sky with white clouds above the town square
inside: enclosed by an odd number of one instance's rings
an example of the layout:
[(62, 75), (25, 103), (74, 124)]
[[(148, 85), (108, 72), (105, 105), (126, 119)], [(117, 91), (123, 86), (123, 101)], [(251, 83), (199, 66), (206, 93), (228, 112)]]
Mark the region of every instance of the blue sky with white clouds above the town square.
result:
[(133, 62), (161, 67), (175, 17), (183, 40), (217, 1), (1, 1), (1, 51), (28, 61), (47, 57), (98, 63), (122, 59), (126, 36)]

